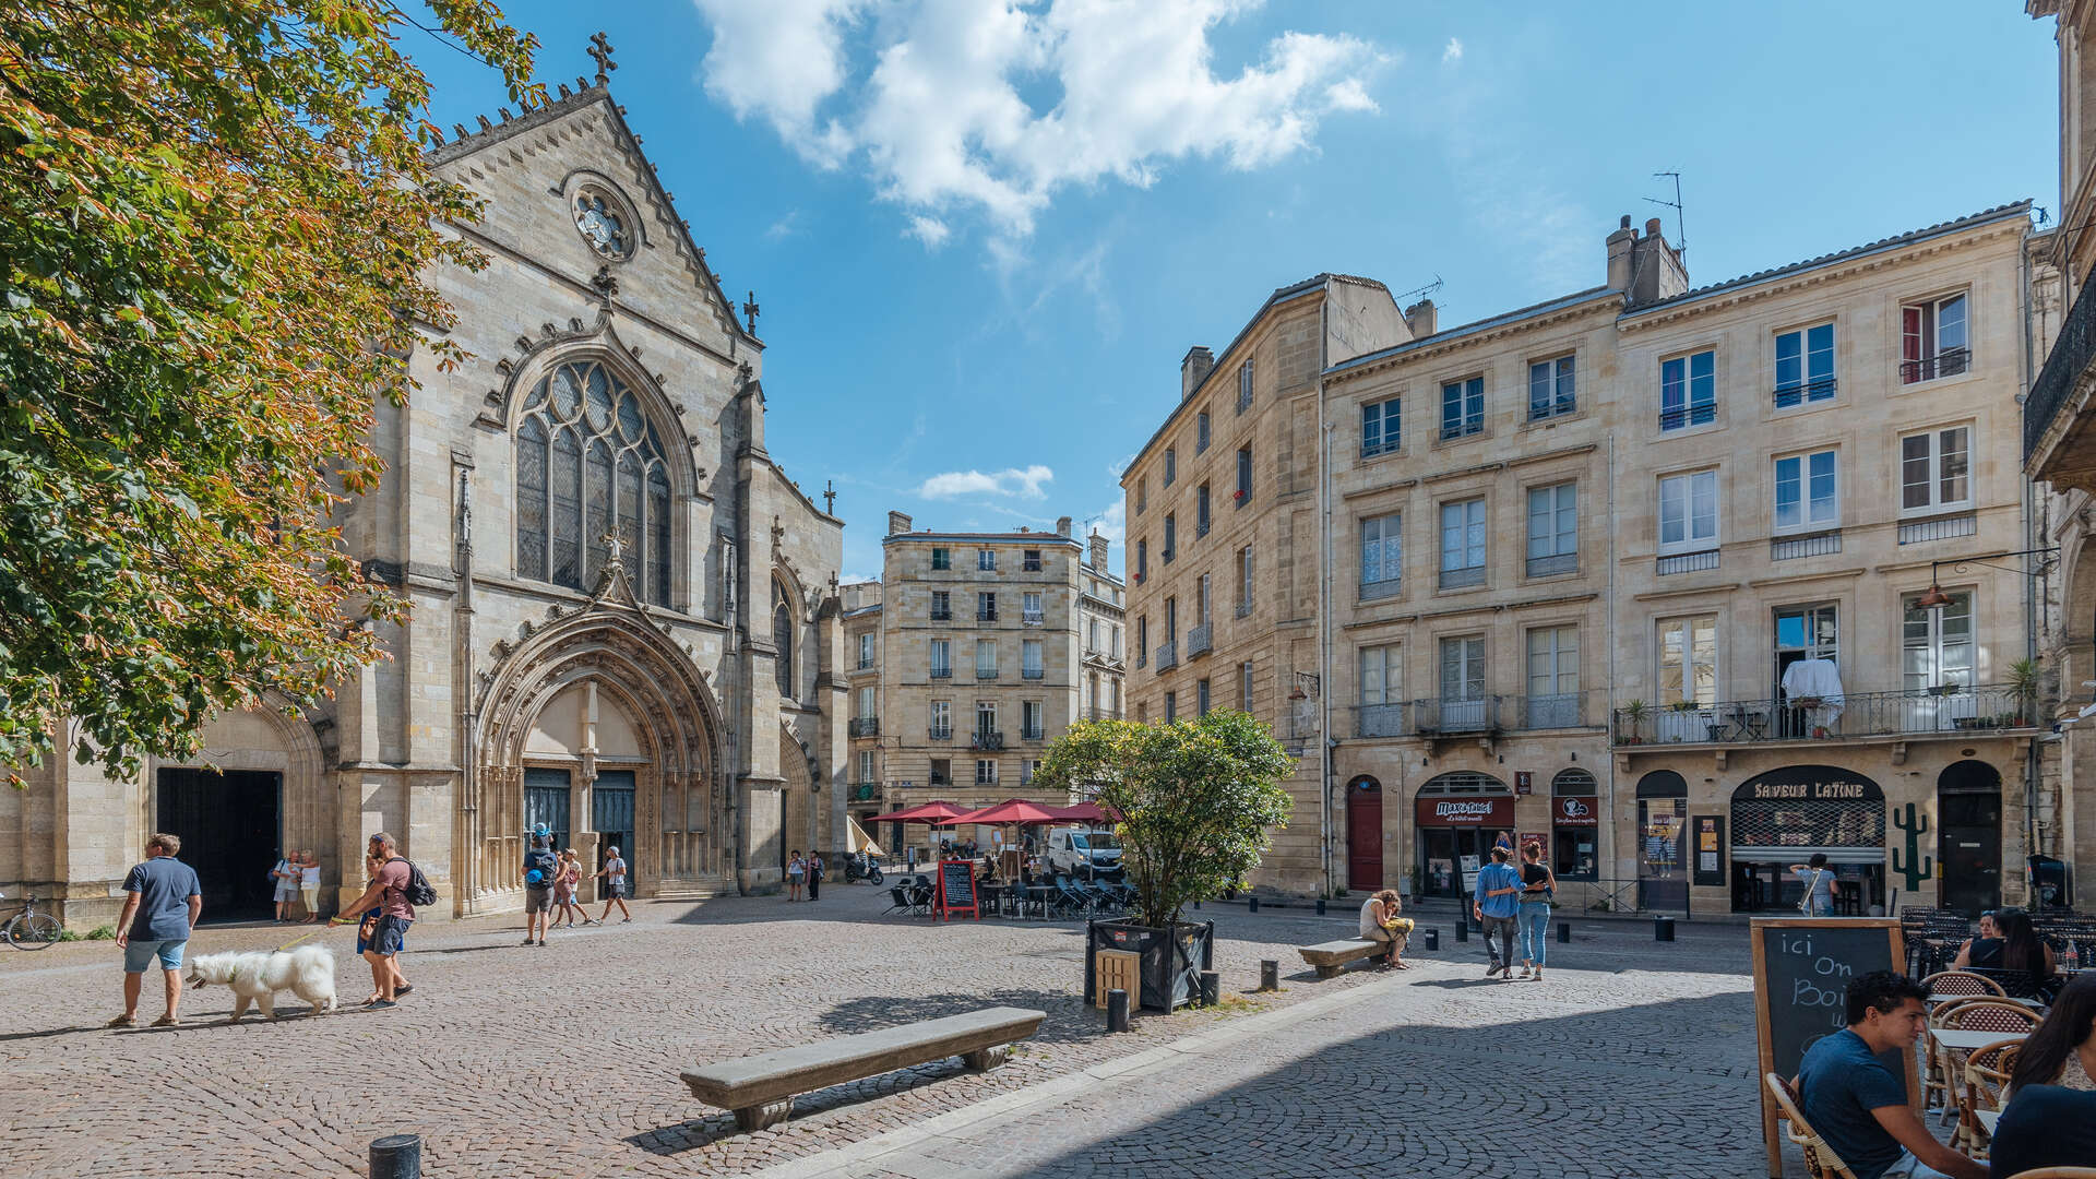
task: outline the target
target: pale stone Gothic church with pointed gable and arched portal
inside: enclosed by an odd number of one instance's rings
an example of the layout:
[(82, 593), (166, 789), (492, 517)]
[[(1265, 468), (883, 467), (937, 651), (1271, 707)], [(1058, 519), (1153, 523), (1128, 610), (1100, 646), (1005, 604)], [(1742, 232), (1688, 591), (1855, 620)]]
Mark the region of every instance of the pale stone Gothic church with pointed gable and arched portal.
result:
[(618, 848), (639, 898), (773, 889), (788, 850), (843, 843), (843, 520), (767, 451), (755, 298), (679, 218), (608, 50), (432, 149), (484, 201), (444, 229), (488, 264), (430, 275), (470, 359), (409, 357), (413, 401), (377, 403), (384, 483), (344, 514), (350, 556), (413, 602), (390, 659), (304, 715), (218, 717), (193, 764), (25, 772), (0, 791), (0, 892), (111, 921), (170, 831), (205, 921), (268, 917), (298, 850), (331, 910), (388, 831), (442, 898), (421, 917), (449, 919), (522, 906), (537, 824), (589, 873)]

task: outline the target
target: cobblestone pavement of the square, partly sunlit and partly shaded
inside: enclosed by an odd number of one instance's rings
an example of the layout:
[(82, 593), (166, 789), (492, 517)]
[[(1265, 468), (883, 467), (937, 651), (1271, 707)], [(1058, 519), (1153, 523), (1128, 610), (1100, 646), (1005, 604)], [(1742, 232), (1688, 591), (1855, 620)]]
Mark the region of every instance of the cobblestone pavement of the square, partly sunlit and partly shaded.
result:
[[(744, 1175), (820, 1164), (849, 1143), (1331, 994), (1358, 1003), (1237, 1036), (1201, 1070), (1140, 1091), (1086, 1080), (1096, 1091), (1040, 1127), (956, 1139), (941, 1150), (960, 1154), (937, 1166), (1325, 1175), (1398, 1160), (1419, 1175), (1610, 1177), (1759, 1166), (1738, 927), (1683, 927), (1679, 942), (1654, 944), (1645, 925), (1582, 925), (1574, 944), (1551, 946), (1564, 965), (1551, 982), (1480, 984), (1482, 944), (1455, 944), (1442, 921), (1442, 950), (1421, 952), (1423, 969), (1318, 982), (1293, 946), (1346, 936), (1350, 915), (1207, 906), (1195, 917), (1218, 921), (1216, 965), (1239, 999), (1107, 1036), (1079, 999), (1079, 927), (931, 925), (878, 917), (885, 902), (832, 885), (817, 904), (643, 904), (633, 925), (555, 934), (547, 948), (518, 946), (516, 917), (430, 925), (405, 959), (417, 990), (394, 1011), (224, 1026), (231, 996), (210, 988), (184, 999), (193, 1022), (172, 1030), (99, 1028), (117, 1011), (109, 944), (0, 950), (0, 1171), (363, 1175), (367, 1143), (407, 1131), (423, 1135), (432, 1177)], [(208, 927), (191, 952), (268, 948), (298, 931)], [(314, 942), (335, 950), (354, 1005), (369, 973), (352, 934)], [(1281, 959), (1281, 994), (1247, 994), (1260, 959)], [(700, 1062), (985, 1003), (1048, 1011), (1006, 1068), (968, 1074), (947, 1062), (828, 1089), (771, 1131), (738, 1135), (677, 1080)]]

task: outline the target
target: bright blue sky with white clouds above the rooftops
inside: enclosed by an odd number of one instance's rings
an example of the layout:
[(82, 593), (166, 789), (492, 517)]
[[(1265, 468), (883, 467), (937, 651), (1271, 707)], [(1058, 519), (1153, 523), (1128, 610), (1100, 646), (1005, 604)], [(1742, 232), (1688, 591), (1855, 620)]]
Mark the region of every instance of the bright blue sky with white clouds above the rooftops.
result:
[[(1094, 520), (1268, 292), (1318, 271), (1442, 325), (1601, 281), (1624, 212), (1696, 283), (2033, 197), (2058, 206), (2054, 23), (2010, 0), (511, 2), (547, 80), (614, 97), (727, 290), (763, 304), (769, 447), (885, 512)], [(411, 34), (421, 38), (421, 34)], [(442, 126), (507, 105), (434, 42)]]

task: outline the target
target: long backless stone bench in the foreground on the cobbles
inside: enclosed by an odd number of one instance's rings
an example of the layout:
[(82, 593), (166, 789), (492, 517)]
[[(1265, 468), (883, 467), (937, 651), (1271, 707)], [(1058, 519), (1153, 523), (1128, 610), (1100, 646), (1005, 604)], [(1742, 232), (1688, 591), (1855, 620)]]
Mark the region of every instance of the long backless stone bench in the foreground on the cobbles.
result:
[(1010, 1055), (1010, 1045), (1038, 1032), (1044, 1017), (1044, 1011), (1025, 1007), (985, 1007), (966, 1015), (918, 1020), (878, 1032), (723, 1059), (685, 1072), (683, 1082), (700, 1101), (734, 1110), (738, 1129), (759, 1131), (792, 1116), (794, 1093), (813, 1093), (952, 1055), (962, 1057), (975, 1072), (998, 1068)]

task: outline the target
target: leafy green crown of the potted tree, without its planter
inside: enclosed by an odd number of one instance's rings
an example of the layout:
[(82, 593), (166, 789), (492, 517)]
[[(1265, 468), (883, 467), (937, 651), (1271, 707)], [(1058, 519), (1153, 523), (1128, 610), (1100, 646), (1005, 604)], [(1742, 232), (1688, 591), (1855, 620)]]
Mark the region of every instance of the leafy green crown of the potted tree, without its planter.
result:
[(1142, 923), (1170, 929), (1186, 904), (1235, 887), (1289, 822), (1295, 772), (1272, 730), (1239, 711), (1174, 724), (1079, 722), (1033, 780), (1119, 812), (1121, 864)]

